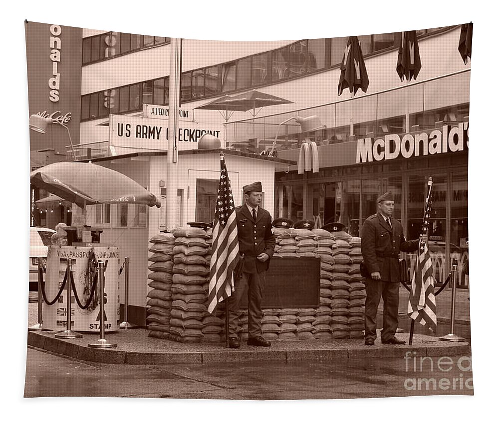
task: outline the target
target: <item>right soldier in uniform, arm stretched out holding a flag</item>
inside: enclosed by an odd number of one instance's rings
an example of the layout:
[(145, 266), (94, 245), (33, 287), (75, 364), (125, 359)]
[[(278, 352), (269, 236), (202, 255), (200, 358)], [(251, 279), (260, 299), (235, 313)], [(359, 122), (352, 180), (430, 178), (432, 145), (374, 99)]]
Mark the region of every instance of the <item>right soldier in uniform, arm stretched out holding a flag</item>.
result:
[[(378, 212), (364, 221), (361, 249), (364, 264), (370, 274), (366, 279), (365, 344), (372, 346), (376, 339), (376, 313), (383, 297), (383, 330), (381, 343), (405, 344), (395, 337), (399, 311), (399, 252), (418, 249), (418, 240), (406, 241), (402, 225), (392, 219), (395, 207), (391, 192), (378, 197)], [(421, 236), (425, 241), (427, 235)]]

